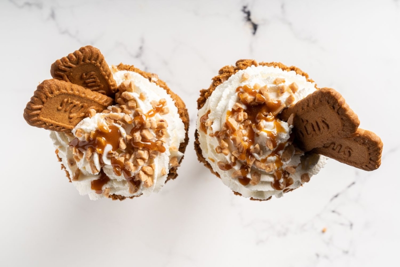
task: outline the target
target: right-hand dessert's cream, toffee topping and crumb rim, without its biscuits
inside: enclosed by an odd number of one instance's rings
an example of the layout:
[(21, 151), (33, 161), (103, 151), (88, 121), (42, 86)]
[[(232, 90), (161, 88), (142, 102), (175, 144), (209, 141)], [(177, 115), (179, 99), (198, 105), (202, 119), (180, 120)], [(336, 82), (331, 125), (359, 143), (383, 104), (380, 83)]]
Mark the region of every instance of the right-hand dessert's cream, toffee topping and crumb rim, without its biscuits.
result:
[(256, 200), (280, 197), (308, 182), (326, 162), (295, 147), (292, 119), (277, 118), (316, 91), (315, 84), (283, 65), (238, 63), (237, 72), (221, 69), (198, 100), (197, 155), (234, 192)]

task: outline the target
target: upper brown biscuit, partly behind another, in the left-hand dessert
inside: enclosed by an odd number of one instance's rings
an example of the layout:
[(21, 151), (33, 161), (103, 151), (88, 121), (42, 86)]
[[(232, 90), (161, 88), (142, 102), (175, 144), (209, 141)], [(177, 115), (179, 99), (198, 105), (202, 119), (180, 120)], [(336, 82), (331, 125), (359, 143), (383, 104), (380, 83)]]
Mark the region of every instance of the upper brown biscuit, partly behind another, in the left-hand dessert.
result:
[(54, 79), (77, 84), (107, 96), (112, 96), (117, 90), (103, 55), (92, 46), (81, 47), (55, 61), (51, 65), (50, 74)]

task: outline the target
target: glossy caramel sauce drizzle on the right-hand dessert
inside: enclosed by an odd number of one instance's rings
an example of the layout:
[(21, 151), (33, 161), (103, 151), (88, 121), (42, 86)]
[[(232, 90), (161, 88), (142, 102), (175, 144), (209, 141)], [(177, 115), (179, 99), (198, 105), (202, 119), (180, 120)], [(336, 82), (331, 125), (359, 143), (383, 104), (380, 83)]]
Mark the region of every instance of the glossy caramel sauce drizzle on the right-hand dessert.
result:
[[(251, 88), (249, 85), (244, 85), (244, 86), (239, 86), (236, 88), (236, 93), (239, 95), (243, 93), (247, 93), (248, 95), (255, 97), (257, 94), (259, 94), (256, 90)], [(240, 97), (241, 99), (241, 97)], [(268, 136), (268, 138), (272, 141), (272, 146), (273, 146), (273, 151), (265, 158), (261, 159), (262, 163), (265, 163), (267, 158), (275, 156), (276, 160), (274, 162), (275, 164), (275, 171), (274, 171), (274, 176), (275, 179), (273, 182), (271, 182), (272, 188), (275, 190), (282, 190), (280, 188), (280, 183), (279, 180), (283, 177), (283, 182), (282, 184), (285, 185), (285, 187), (290, 186), (293, 184), (293, 179), (289, 178), (289, 173), (286, 171), (282, 170), (283, 162), (280, 158), (280, 155), (278, 154), (281, 152), (287, 142), (285, 143), (280, 143), (277, 145), (276, 137), (278, 133), (284, 132), (284, 128), (279, 124), (280, 120), (277, 119), (275, 116), (272, 115), (278, 108), (281, 106), (281, 102), (279, 100), (274, 100), (274, 101), (267, 101), (264, 103), (260, 104), (255, 104), (252, 103), (252, 105), (248, 105), (247, 103), (241, 103), (245, 106), (245, 109), (243, 112), (247, 114), (247, 119), (250, 120), (251, 124), (244, 126), (244, 136), (241, 138), (242, 145), (244, 147), (244, 151), (240, 154), (240, 156), (237, 158), (238, 160), (244, 161), (244, 164), (240, 166), (240, 174), (241, 176), (238, 177), (238, 181), (242, 185), (247, 185), (250, 182), (250, 178), (246, 177), (246, 175), (249, 173), (251, 167), (249, 166), (249, 163), (253, 161), (253, 156), (252, 153), (250, 152), (251, 146), (254, 144), (254, 136), (255, 133), (253, 126), (255, 126), (260, 122), (260, 121), (267, 121), (267, 122), (273, 122), (273, 125), (276, 129), (276, 133), (272, 131), (268, 131), (265, 129), (258, 129), (261, 132), (265, 132)], [(205, 122), (208, 119), (208, 114), (210, 111), (208, 111), (205, 115), (203, 115), (200, 118), (200, 128), (206, 133), (206, 127), (205, 127)], [(231, 115), (233, 114), (233, 111), (227, 111), (226, 113), (226, 125), (228, 127), (229, 132), (233, 136), (242, 136), (243, 131), (241, 129), (238, 129), (236, 131), (233, 131), (233, 126), (229, 123), (227, 120)], [(257, 134), (258, 135), (258, 134)], [(214, 136), (218, 136), (216, 133)], [(293, 136), (294, 137), (294, 136)], [(290, 139), (292, 141), (292, 135), (290, 136)], [(290, 142), (290, 139), (288, 142)], [(228, 163), (228, 164), (220, 164), (219, 168), (221, 170), (229, 170), (232, 168), (233, 163)], [(235, 163), (234, 163), (235, 164)]]

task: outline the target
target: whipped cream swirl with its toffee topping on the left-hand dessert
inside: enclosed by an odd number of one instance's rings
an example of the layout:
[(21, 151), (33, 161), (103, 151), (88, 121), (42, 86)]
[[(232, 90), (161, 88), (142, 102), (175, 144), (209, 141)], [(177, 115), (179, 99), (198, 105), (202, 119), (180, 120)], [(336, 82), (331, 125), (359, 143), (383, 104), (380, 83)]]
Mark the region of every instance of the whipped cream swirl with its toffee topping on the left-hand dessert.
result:
[(166, 91), (135, 72), (113, 78), (118, 88), (130, 87), (116, 97), (125, 103), (83, 119), (72, 134), (50, 133), (72, 184), (92, 200), (158, 192), (183, 156), (184, 125)]

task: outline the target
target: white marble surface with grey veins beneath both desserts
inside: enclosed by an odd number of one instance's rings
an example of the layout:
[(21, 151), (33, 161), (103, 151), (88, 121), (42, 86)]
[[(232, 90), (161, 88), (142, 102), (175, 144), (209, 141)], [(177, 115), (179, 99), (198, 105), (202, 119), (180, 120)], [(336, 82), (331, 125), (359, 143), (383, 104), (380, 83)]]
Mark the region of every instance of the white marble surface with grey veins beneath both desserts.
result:
[[(400, 2), (388, 0), (1, 0), (0, 265), (396, 265), (399, 27)], [(185, 101), (190, 143), (179, 177), (161, 193), (123, 202), (79, 196), (48, 132), (24, 122), (51, 63), (84, 45), (109, 64), (157, 73)], [(283, 198), (233, 195), (197, 162), (192, 142), (198, 91), (242, 58), (297, 66), (339, 91), (360, 127), (381, 137), (381, 167), (329, 160)]]

